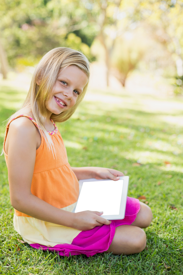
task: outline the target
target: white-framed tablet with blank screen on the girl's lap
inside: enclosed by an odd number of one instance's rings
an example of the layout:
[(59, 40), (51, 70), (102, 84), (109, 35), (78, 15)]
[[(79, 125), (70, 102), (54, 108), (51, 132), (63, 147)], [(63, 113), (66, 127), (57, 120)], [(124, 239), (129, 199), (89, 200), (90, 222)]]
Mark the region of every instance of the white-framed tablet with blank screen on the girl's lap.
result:
[(80, 195), (75, 213), (85, 210), (103, 211), (108, 220), (124, 219), (129, 177), (120, 177), (119, 181), (80, 180)]

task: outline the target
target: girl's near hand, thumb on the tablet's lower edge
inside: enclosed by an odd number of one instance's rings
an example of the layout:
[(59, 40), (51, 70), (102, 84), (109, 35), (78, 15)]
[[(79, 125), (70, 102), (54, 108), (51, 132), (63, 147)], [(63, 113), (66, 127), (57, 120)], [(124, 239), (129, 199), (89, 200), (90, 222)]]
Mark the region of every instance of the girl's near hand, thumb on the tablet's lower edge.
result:
[(103, 211), (81, 211), (74, 213), (74, 220), (72, 227), (78, 230), (86, 231), (93, 229), (95, 226), (102, 226), (103, 224), (110, 224), (111, 221), (108, 221), (101, 217)]

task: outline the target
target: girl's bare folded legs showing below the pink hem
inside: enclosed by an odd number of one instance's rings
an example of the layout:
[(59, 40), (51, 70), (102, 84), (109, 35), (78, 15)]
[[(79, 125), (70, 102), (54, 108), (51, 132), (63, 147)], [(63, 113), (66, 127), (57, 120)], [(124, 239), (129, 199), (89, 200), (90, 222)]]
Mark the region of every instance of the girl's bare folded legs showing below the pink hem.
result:
[(146, 246), (146, 234), (142, 228), (150, 225), (153, 215), (148, 205), (140, 202), (140, 210), (131, 225), (116, 227), (115, 235), (106, 253), (134, 254), (141, 252)]

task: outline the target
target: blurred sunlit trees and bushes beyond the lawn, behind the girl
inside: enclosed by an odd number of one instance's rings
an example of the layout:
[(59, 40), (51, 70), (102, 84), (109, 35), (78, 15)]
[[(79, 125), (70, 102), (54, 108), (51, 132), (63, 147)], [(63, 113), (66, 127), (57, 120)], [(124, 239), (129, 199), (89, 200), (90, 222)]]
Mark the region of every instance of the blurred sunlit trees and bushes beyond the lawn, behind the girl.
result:
[(182, 6), (176, 0), (1, 0), (1, 78), (29, 86), (41, 57), (64, 46), (90, 59), (93, 88), (182, 95)]

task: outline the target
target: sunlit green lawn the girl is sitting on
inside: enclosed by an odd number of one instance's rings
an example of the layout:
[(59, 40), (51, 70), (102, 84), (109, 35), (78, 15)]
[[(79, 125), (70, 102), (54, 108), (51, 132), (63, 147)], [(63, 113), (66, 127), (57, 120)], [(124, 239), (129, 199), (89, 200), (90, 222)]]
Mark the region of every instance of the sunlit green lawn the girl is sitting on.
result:
[[(104, 103), (96, 101), (98, 94)], [(116, 104), (110, 103), (111, 96)], [(25, 97), (24, 92), (1, 87), (1, 145), (2, 122)], [(0, 274), (183, 274), (183, 101), (110, 90), (92, 91), (92, 97), (94, 101), (82, 103), (72, 119), (58, 125), (69, 162), (110, 167), (129, 175), (128, 195), (145, 196), (144, 202), (153, 211), (151, 226), (145, 229), (146, 249), (131, 256), (59, 257), (20, 243), (13, 228), (7, 167), (1, 156)]]

